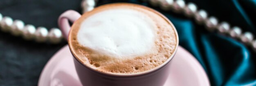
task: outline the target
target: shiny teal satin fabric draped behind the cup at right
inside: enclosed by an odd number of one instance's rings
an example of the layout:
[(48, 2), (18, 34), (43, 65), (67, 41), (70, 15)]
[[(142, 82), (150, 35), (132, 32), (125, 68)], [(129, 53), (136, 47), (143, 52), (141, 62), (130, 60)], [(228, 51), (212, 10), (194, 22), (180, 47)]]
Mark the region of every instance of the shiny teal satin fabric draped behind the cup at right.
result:
[[(219, 18), (219, 21), (227, 21), (231, 26), (236, 25), (243, 31), (256, 34), (256, 0), (185, 1), (197, 4), (199, 9), (206, 10), (210, 16)], [(193, 18), (186, 18), (180, 13), (163, 11), (137, 0), (116, 2), (143, 4), (166, 15), (177, 29), (180, 45), (202, 64), (212, 86), (256, 86), (256, 52), (249, 47), (218, 32), (209, 32), (204, 26), (196, 24)]]

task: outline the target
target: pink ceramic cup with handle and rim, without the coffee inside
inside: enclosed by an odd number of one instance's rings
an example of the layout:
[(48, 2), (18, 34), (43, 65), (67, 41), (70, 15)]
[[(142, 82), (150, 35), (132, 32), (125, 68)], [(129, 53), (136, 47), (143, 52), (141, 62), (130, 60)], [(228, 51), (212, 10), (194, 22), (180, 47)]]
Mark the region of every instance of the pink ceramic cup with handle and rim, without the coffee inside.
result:
[[(108, 5), (130, 5), (130, 6), (137, 6), (143, 9), (153, 11), (158, 15), (161, 15), (175, 29), (173, 24), (164, 15), (148, 7), (144, 7), (137, 4), (116, 3), (116, 4), (106, 4), (101, 6), (101, 8), (107, 7)], [(70, 31), (70, 25), (68, 20), (70, 20), (71, 22), (74, 22), (76, 20), (79, 20), (80, 17), (81, 15), (78, 12), (73, 10), (65, 11), (59, 17), (58, 25), (66, 39)], [(176, 31), (176, 35), (177, 35), (177, 31)], [(168, 58), (168, 60), (166, 60), (166, 62), (149, 71), (132, 73), (132, 74), (117, 74), (117, 73), (106, 73), (106, 72), (97, 71), (80, 62), (80, 60), (78, 60), (73, 53), (72, 54), (74, 56), (74, 64), (76, 67), (76, 72), (83, 86), (163, 86), (170, 73), (170, 62), (177, 51), (178, 42), (179, 41), (177, 36), (177, 45), (175, 46), (175, 52), (173, 53), (173, 55), (171, 55), (171, 57)]]

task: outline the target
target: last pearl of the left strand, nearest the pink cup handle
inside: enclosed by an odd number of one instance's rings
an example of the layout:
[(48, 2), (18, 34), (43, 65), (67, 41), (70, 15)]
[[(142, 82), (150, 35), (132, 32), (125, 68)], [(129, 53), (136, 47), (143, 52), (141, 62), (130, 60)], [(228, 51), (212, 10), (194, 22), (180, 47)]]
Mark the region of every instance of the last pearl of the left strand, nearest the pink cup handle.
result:
[(62, 38), (61, 30), (58, 28), (52, 28), (49, 31), (48, 37), (49, 37), (50, 42), (52, 42), (54, 44), (61, 42), (61, 38)]

